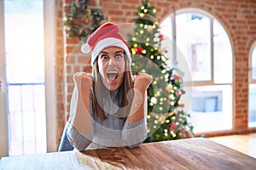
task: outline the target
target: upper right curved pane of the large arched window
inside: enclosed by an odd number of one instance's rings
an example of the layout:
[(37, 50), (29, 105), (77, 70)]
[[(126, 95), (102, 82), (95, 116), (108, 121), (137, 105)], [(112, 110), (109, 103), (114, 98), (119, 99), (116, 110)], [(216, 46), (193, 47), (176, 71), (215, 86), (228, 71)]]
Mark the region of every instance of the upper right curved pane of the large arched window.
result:
[(232, 51), (230, 39), (218, 20), (213, 21), (214, 82), (232, 82)]

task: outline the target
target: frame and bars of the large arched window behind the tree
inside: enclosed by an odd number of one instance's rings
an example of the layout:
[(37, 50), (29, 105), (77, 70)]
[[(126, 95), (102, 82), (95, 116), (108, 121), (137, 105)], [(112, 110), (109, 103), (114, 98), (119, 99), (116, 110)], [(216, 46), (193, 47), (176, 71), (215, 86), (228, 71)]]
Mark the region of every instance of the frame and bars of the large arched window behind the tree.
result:
[[(234, 103), (235, 103), (235, 89), (234, 89), (234, 80), (235, 80), (235, 71), (234, 71), (234, 68), (235, 68), (235, 58), (234, 58), (234, 44), (231, 42), (231, 36), (230, 36), (230, 32), (229, 31), (227, 31), (227, 29), (225, 28), (225, 26), (224, 26), (224, 23), (223, 22), (221, 22), (220, 20), (218, 20), (218, 17), (216, 17), (216, 16), (213, 16), (212, 14), (209, 14), (207, 11), (205, 11), (205, 10), (202, 10), (202, 9), (200, 9), (200, 8), (181, 8), (181, 9), (178, 9), (178, 10), (176, 10), (176, 11), (174, 11), (172, 14), (168, 14), (167, 15), (167, 17), (170, 17), (170, 19), (168, 19), (169, 20), (169, 22), (171, 22), (171, 24), (172, 24), (172, 33), (171, 34), (168, 34), (168, 36), (169, 37), (172, 37), (173, 39), (172, 39), (172, 41), (173, 41), (173, 44), (177, 44), (177, 26), (176, 26), (176, 20), (177, 20), (177, 15), (178, 14), (187, 14), (187, 13), (190, 13), (190, 14), (201, 14), (201, 15), (203, 15), (203, 16), (205, 16), (205, 17), (208, 17), (209, 18), (209, 20), (210, 20), (210, 55), (211, 55), (211, 59), (210, 59), (210, 61), (211, 61), (211, 80), (210, 81), (197, 81), (197, 82), (193, 82), (193, 80), (189, 80), (189, 82), (186, 82), (186, 81), (184, 81), (184, 83), (183, 83), (183, 87), (185, 88), (185, 87), (187, 87), (187, 88), (193, 88), (193, 87), (203, 87), (203, 86), (205, 86), (205, 87), (211, 87), (211, 86), (225, 86), (225, 87), (227, 87), (227, 86), (230, 86), (230, 92), (231, 92), (231, 100), (230, 100), (230, 103), (231, 103), (231, 105), (230, 105), (230, 114), (231, 114), (231, 119), (232, 120), (230, 120), (231, 121), (231, 125), (230, 125), (230, 127), (224, 127), (224, 129), (221, 129), (221, 130), (214, 130), (214, 129), (212, 129), (212, 130), (210, 130), (210, 131), (205, 131), (205, 132), (203, 132), (203, 131), (200, 131), (200, 132), (196, 132), (196, 134), (201, 134), (201, 133), (212, 133), (212, 132), (219, 132), (219, 131), (230, 131), (230, 130), (232, 130), (233, 128), (234, 128), (234, 119), (233, 119), (233, 117), (234, 117), (234, 113), (236, 112), (236, 108), (234, 107)], [(166, 20), (166, 18), (164, 19), (164, 20)], [(162, 20), (162, 21), (164, 21), (164, 20)], [(214, 29), (214, 27), (213, 27), (213, 23), (214, 22), (216, 22), (216, 21), (218, 21), (218, 23), (222, 26), (222, 28), (224, 29), (224, 32), (226, 33), (226, 36), (229, 38), (229, 43), (230, 43), (230, 57), (231, 57), (231, 64), (232, 64), (232, 66), (231, 66), (231, 68), (230, 69), (232, 69), (231, 71), (231, 82), (214, 82), (214, 42), (213, 42), (213, 36), (214, 36), (214, 34), (213, 34), (213, 29)], [(179, 50), (178, 50), (178, 48), (176, 47), (176, 46), (174, 46), (173, 47), (173, 52), (172, 52), (172, 56), (175, 56), (175, 57), (173, 57), (173, 63), (176, 63), (176, 56), (177, 56), (177, 54), (178, 54), (178, 52), (179, 52)], [(215, 61), (216, 62), (216, 61)], [(190, 68), (189, 68), (190, 69)], [(191, 75), (192, 76), (192, 75)], [(186, 91), (186, 90), (185, 90)], [(189, 94), (190, 94), (190, 96), (192, 96), (191, 95), (191, 92), (190, 91), (192, 91), (191, 89), (189, 89)], [(187, 94), (187, 91), (186, 91), (186, 94)], [(186, 97), (185, 97), (186, 98)], [(185, 105), (185, 107), (187, 107), (186, 105)], [(188, 111), (190, 111), (190, 109), (191, 108), (189, 108), (188, 109)], [(186, 110), (187, 111), (187, 110)]]

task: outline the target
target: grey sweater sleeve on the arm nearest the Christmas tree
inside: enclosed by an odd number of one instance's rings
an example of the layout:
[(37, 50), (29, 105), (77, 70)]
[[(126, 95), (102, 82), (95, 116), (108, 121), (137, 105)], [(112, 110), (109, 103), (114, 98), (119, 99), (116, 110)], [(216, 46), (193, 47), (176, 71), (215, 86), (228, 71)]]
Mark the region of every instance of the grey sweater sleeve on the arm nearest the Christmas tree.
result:
[(144, 105), (144, 117), (137, 122), (129, 122), (126, 119), (122, 130), (122, 139), (128, 147), (134, 148), (143, 143), (147, 138), (147, 113), (148, 113), (147, 96)]

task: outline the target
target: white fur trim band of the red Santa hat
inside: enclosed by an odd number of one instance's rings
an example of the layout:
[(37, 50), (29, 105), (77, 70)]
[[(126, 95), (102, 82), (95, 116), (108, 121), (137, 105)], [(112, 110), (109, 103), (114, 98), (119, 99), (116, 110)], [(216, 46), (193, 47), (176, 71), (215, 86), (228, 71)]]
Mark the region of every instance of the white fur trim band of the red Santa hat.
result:
[(129, 48), (127, 47), (125, 42), (121, 41), (118, 38), (114, 38), (114, 37), (104, 38), (104, 39), (102, 39), (102, 41), (97, 42), (97, 44), (91, 54), (90, 65), (93, 66), (94, 61), (96, 60), (97, 56), (102, 52), (102, 50), (104, 48), (109, 48), (109, 47), (118, 47), (118, 48), (124, 49), (125, 54), (127, 55), (127, 58), (131, 65), (131, 53), (130, 53)]

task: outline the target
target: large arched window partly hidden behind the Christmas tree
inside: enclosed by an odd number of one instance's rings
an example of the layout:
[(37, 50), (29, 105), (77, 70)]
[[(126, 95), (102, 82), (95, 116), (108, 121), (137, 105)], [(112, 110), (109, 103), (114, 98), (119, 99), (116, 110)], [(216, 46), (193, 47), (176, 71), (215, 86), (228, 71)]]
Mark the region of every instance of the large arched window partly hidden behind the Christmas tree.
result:
[(189, 112), (195, 133), (231, 129), (233, 59), (224, 27), (201, 9), (185, 8), (170, 14), (160, 29), (176, 44), (172, 54), (177, 65), (187, 61), (192, 77)]

